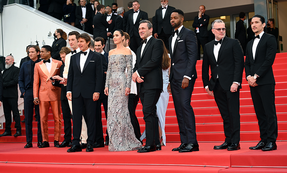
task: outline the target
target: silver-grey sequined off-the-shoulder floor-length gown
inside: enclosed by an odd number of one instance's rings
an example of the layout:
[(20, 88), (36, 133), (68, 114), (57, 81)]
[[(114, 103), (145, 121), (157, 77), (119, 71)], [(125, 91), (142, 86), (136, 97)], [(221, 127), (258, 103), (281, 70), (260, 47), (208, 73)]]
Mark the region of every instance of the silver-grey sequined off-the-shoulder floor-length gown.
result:
[(125, 89), (131, 87), (132, 59), (132, 55), (108, 56), (105, 87), (109, 88), (107, 129), (110, 138), (108, 146), (110, 152), (131, 151), (141, 147), (131, 125), (128, 96), (125, 96)]

